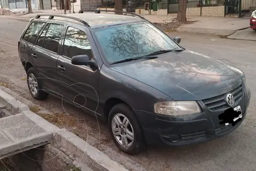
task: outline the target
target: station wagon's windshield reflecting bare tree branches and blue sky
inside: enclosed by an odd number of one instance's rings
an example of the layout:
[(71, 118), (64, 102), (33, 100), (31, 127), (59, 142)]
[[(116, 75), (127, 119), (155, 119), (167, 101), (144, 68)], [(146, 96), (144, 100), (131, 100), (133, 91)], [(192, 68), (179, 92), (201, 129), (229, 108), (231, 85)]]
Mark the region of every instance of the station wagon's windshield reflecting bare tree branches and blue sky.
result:
[(95, 29), (94, 33), (110, 63), (158, 51), (181, 50), (177, 43), (149, 22), (110, 26)]

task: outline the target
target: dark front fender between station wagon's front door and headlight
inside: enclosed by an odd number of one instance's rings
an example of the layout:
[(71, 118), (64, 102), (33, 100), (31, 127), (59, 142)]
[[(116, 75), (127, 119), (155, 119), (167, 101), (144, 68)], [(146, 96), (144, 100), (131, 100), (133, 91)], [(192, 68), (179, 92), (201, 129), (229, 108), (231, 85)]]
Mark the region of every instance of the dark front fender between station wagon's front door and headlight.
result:
[(133, 110), (149, 112), (154, 112), (156, 102), (172, 101), (171, 97), (157, 89), (111, 70), (103, 64), (99, 78), (99, 113), (103, 113), (104, 104), (111, 98), (124, 101)]

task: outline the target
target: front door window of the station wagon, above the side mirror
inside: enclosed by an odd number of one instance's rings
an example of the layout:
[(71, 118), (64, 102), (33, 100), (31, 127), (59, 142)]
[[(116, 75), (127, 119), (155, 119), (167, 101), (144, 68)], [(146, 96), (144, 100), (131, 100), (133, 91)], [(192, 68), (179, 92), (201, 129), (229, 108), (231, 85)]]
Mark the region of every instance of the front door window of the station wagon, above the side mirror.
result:
[(91, 46), (84, 31), (68, 27), (64, 40), (63, 55), (68, 58), (75, 55), (88, 55), (90, 60), (93, 58)]

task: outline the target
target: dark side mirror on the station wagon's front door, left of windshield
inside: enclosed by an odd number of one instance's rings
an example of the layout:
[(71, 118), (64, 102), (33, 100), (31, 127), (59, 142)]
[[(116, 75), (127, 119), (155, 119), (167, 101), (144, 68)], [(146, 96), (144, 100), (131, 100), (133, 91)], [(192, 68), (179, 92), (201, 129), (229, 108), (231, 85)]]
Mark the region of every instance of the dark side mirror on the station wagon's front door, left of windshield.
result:
[(71, 63), (76, 66), (90, 66), (92, 69), (97, 69), (97, 64), (94, 60), (89, 59), (88, 55), (76, 55), (71, 58)]

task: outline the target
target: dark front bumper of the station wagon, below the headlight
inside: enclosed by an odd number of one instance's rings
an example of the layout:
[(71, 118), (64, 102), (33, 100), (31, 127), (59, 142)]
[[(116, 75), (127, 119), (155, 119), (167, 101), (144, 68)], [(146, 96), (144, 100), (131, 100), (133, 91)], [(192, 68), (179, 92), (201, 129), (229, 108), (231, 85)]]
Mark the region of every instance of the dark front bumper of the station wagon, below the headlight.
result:
[(241, 106), (243, 116), (242, 120), (234, 126), (231, 124), (220, 125), (218, 116), (223, 111), (205, 111), (184, 117), (167, 117), (142, 110), (134, 110), (134, 112), (140, 121), (147, 144), (183, 146), (209, 141), (234, 131), (246, 116), (250, 97), (251, 92), (243, 96), (242, 100), (237, 103)]

